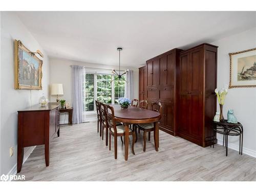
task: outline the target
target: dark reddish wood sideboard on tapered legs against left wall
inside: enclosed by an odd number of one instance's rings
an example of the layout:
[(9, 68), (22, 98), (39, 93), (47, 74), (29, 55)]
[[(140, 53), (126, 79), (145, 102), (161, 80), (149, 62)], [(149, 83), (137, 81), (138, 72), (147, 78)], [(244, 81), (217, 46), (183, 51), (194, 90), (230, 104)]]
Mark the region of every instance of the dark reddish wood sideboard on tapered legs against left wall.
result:
[(17, 173), (22, 169), (24, 147), (45, 145), (45, 161), (49, 166), (50, 141), (59, 137), (59, 104), (39, 104), (18, 111)]

